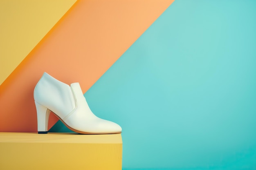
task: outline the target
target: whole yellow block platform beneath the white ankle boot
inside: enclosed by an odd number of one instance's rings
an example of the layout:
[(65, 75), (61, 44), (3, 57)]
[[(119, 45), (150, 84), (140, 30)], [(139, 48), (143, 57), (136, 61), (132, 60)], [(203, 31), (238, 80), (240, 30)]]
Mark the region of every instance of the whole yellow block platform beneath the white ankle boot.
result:
[(121, 169), (121, 134), (0, 132), (0, 170)]

